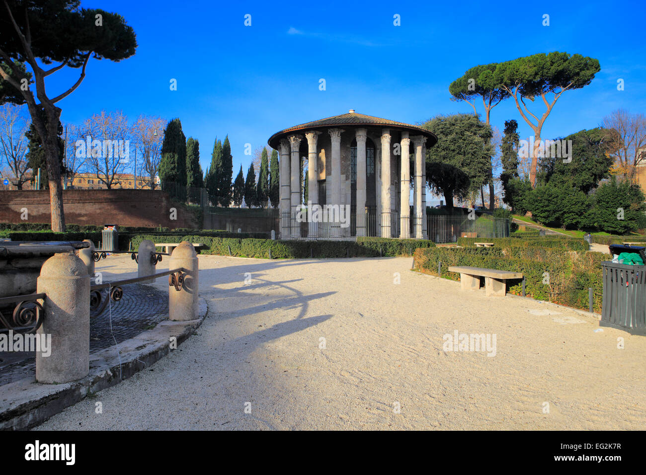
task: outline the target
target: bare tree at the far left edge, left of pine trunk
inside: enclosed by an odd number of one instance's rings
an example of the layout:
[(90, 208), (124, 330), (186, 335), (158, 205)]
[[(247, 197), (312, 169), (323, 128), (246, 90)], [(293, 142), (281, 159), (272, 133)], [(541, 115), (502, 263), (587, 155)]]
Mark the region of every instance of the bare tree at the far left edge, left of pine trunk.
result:
[(0, 163), (8, 167), (6, 178), (17, 189), (23, 189), (23, 184), (30, 180), (25, 176), (29, 169), (29, 162), (25, 159), (28, 145), (25, 132), (29, 127), (29, 121), (24, 112), (21, 106), (0, 106), (0, 154), (3, 157)]

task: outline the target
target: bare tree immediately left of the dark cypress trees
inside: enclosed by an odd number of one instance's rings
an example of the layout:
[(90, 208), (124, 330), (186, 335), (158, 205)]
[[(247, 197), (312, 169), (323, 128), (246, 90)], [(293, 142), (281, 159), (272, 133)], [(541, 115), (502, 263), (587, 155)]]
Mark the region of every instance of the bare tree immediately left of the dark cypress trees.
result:
[[(161, 160), (163, 129), (167, 121), (161, 117), (139, 116), (132, 125), (132, 140), (139, 151), (140, 169), (148, 176), (147, 184), (156, 187), (156, 175)], [(135, 177), (136, 180), (136, 177)]]

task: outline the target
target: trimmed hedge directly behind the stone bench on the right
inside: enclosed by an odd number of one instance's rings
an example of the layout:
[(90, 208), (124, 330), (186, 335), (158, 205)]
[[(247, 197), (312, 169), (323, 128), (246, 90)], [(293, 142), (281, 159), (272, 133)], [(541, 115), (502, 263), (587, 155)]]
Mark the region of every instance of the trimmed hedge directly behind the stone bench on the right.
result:
[[(601, 262), (609, 260), (603, 253), (540, 248), (432, 248), (415, 251), (415, 269), (437, 275), (437, 263), (442, 263), (446, 279), (459, 280), (459, 273), (449, 272), (449, 266), (522, 272), (525, 293), (534, 299), (554, 302), (588, 310), (588, 288), (594, 293), (594, 310), (601, 311), (603, 282)], [(548, 284), (544, 284), (544, 273)], [(522, 280), (507, 280), (507, 291), (522, 294)]]

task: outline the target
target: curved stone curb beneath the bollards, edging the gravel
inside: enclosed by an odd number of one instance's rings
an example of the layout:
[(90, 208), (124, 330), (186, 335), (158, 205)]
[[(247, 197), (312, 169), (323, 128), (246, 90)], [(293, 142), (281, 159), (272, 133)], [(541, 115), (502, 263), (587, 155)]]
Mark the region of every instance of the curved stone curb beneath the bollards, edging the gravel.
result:
[(207, 312), (207, 303), (200, 298), (198, 319), (165, 320), (152, 330), (90, 354), (90, 374), (78, 381), (43, 385), (36, 382), (34, 375), (0, 386), (0, 429), (35, 427), (88, 395), (117, 385), (151, 366), (171, 352), (171, 337), (176, 337), (178, 345), (183, 343), (200, 327)]

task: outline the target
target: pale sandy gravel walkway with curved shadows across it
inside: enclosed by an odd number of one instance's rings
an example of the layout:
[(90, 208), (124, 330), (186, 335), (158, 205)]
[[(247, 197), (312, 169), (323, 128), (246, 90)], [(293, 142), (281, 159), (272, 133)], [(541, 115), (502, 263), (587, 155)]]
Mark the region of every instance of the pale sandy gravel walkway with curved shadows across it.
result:
[[(411, 261), (201, 256), (209, 317), (198, 334), (39, 428), (646, 426), (646, 337), (595, 332), (594, 319), (551, 304), (463, 293)], [(107, 264), (134, 269), (123, 257)], [(495, 356), (444, 351), (455, 330), (495, 333)]]

